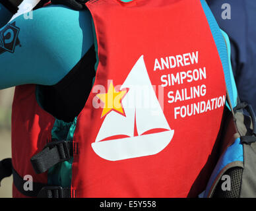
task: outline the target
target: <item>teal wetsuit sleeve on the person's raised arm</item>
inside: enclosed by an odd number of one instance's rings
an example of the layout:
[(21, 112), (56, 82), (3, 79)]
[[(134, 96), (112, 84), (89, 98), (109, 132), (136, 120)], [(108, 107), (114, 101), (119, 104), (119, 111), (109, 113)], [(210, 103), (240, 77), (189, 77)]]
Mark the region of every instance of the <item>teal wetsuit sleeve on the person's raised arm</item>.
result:
[[(18, 33), (13, 53), (0, 49), (0, 89), (59, 82), (93, 45), (91, 21), (88, 11), (58, 5), (34, 11), (32, 19), (18, 16), (1, 28), (15, 27)], [(10, 42), (9, 34), (2, 43)]]

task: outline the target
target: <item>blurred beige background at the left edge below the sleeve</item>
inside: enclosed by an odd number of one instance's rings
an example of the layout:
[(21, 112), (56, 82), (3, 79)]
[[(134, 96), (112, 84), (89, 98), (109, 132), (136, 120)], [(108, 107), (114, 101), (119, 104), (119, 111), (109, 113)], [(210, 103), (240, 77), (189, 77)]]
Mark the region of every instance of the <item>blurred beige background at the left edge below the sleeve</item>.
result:
[[(11, 158), (11, 105), (15, 88), (0, 90), (0, 160)], [(13, 177), (1, 182), (0, 198), (12, 197)]]

